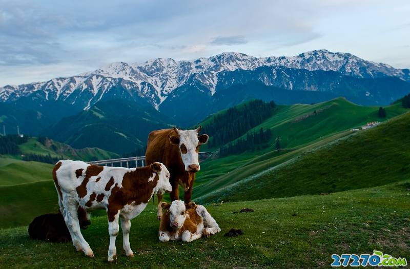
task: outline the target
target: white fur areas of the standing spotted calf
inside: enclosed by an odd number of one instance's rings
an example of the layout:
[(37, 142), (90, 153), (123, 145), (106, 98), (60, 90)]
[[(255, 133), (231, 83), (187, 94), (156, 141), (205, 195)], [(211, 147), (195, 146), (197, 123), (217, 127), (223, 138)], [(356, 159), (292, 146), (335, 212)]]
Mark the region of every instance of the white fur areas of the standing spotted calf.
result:
[[(94, 254), (90, 248), (90, 245), (84, 239), (80, 232), (80, 227), (78, 224), (77, 209), (78, 206), (87, 208), (87, 211), (94, 209), (107, 209), (108, 198), (111, 195), (111, 190), (117, 184), (119, 188), (122, 187), (122, 178), (124, 174), (130, 171), (135, 171), (135, 168), (118, 168), (118, 167), (104, 167), (97, 176), (92, 176), (87, 185), (87, 195), (83, 198), (79, 198), (76, 188), (83, 182), (85, 177), (85, 172), (89, 164), (82, 161), (72, 161), (72, 160), (62, 160), (60, 168), (56, 171), (58, 185), (60, 186), (61, 193), (63, 194), (63, 200), (58, 197), (58, 204), (60, 206), (60, 212), (63, 214), (66, 221), (68, 230), (70, 232), (73, 244), (77, 251), (83, 251), (87, 256), (94, 257)], [(156, 193), (163, 193), (165, 191), (172, 191), (171, 184), (169, 182), (170, 173), (165, 165), (161, 164), (161, 171), (158, 172), (159, 180), (151, 193), (151, 197)], [(75, 171), (77, 169), (83, 169), (83, 175), (76, 177)], [(100, 177), (98, 182), (95, 180)], [(105, 187), (110, 180), (114, 178), (114, 184), (112, 184), (109, 191), (105, 190)], [(148, 181), (153, 180), (155, 173), (153, 173)], [(85, 204), (90, 200), (90, 195), (92, 193), (104, 194), (102, 201), (97, 202), (94, 200), (92, 205), (87, 207)], [(118, 235), (119, 230), (119, 218), (121, 219), (121, 227), (123, 234), (123, 246), (127, 256), (133, 256), (130, 241), (129, 232), (131, 228), (131, 219), (139, 215), (147, 206), (147, 203), (141, 203), (134, 205), (134, 203), (127, 204), (118, 211), (115, 215), (114, 221), (108, 223), (108, 231), (110, 234), (110, 246), (108, 251), (108, 261), (113, 261), (116, 258), (116, 247), (115, 239)]]

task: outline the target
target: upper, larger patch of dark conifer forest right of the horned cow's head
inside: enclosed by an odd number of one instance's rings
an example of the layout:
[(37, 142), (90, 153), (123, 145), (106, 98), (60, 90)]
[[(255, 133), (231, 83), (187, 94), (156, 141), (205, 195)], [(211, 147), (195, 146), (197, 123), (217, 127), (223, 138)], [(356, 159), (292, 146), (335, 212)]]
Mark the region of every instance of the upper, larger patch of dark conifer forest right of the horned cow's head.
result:
[(212, 135), (208, 147), (220, 147), (242, 136), (272, 116), (275, 108), (274, 101), (265, 103), (262, 100), (253, 100), (242, 107), (233, 107), (225, 113), (215, 115), (211, 123), (202, 126), (204, 133)]

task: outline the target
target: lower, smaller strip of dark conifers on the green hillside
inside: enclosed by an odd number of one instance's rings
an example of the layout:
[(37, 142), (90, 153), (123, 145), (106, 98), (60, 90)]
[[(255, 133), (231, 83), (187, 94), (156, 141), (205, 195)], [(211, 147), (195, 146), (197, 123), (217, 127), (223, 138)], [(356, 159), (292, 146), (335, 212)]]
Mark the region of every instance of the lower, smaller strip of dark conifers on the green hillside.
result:
[(254, 151), (266, 148), (269, 146), (268, 142), (271, 140), (272, 133), (268, 129), (263, 131), (263, 128), (259, 129), (259, 132), (248, 132), (247, 138), (240, 138), (236, 142), (228, 143), (227, 146), (221, 147), (219, 150), (219, 156), (228, 156), (231, 154), (238, 154), (245, 151)]

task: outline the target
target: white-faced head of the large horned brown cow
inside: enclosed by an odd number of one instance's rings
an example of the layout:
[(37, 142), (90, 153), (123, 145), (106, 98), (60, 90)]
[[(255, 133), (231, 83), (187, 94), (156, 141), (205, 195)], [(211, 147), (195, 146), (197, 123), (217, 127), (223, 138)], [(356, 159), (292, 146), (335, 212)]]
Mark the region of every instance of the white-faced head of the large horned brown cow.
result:
[(179, 147), (185, 171), (195, 173), (198, 172), (199, 167), (199, 146), (208, 141), (209, 136), (206, 134), (199, 135), (202, 127), (199, 126), (195, 130), (179, 130), (174, 127), (177, 134), (170, 136), (170, 141), (175, 146)]

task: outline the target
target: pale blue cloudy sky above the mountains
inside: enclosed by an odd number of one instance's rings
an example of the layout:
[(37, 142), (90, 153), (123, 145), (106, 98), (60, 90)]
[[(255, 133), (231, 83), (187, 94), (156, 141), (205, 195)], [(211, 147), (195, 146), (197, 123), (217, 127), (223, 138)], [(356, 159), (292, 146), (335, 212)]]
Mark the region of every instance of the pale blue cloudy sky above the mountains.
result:
[(408, 14), (408, 0), (0, 0), (0, 87), (224, 51), (327, 49), (410, 68)]

